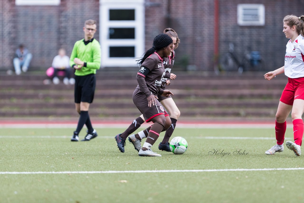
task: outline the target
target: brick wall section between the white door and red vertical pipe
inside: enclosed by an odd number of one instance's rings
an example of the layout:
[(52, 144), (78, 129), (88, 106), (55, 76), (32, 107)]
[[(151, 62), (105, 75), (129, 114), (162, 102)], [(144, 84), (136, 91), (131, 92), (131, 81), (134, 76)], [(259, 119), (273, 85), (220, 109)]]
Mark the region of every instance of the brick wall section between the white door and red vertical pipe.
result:
[[(152, 46), (154, 37), (166, 27), (173, 28), (181, 40), (176, 49), (175, 68), (186, 70), (196, 65), (209, 70), (213, 65), (213, 1), (169, 0), (153, 1), (160, 6), (146, 7), (146, 47)], [(169, 12), (168, 12), (169, 10)], [(169, 15), (167, 15), (170, 13)], [(150, 23), (153, 22), (153, 23)], [(212, 68), (213, 70), (213, 68)]]

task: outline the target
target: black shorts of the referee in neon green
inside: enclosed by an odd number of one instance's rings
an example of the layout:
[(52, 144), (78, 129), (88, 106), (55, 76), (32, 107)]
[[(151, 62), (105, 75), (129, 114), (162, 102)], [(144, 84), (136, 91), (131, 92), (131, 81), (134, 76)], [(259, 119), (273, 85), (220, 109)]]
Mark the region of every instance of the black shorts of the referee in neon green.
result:
[(75, 75), (74, 101), (75, 103), (92, 103), (96, 86), (95, 74), (84, 76)]

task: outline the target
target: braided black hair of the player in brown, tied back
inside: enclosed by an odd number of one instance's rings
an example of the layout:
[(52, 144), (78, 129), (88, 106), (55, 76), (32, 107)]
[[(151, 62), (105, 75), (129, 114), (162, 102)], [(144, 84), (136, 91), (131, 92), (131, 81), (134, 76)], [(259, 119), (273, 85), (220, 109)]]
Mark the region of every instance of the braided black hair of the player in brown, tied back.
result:
[(167, 47), (169, 44), (171, 44), (173, 41), (171, 39), (171, 37), (167, 34), (159, 34), (157, 35), (154, 40), (153, 40), (153, 46), (152, 48), (150, 48), (148, 51), (146, 51), (144, 53), (143, 58), (140, 58), (137, 64), (141, 65), (143, 63), (143, 61), (145, 61), (148, 56), (150, 56), (151, 54), (154, 53), (154, 51), (160, 50), (164, 47)]

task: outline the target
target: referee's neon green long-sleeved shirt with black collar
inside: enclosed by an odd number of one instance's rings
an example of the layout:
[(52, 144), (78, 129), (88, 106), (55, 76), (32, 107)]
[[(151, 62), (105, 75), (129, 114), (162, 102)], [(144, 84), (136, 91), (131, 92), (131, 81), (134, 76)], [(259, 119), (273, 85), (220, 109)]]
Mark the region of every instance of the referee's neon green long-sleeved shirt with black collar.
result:
[(70, 66), (75, 65), (74, 58), (79, 58), (81, 61), (87, 63), (86, 67), (82, 67), (75, 71), (75, 75), (84, 76), (89, 74), (96, 74), (96, 70), (100, 68), (101, 51), (100, 44), (97, 40), (93, 39), (85, 45), (84, 39), (75, 42), (71, 58)]

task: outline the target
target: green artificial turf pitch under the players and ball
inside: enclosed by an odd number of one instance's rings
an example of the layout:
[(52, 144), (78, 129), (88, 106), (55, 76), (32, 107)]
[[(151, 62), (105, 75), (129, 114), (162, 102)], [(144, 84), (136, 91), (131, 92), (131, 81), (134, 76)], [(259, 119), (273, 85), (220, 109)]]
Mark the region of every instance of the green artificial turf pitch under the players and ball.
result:
[[(121, 153), (114, 136), (123, 129), (96, 130), (98, 137), (89, 142), (71, 142), (73, 129), (68, 128), (1, 129), (0, 172), (95, 173), (0, 174), (0, 202), (304, 201), (299, 190), (303, 170), (172, 171), (304, 167), (303, 156), (287, 147), (265, 155), (275, 145), (274, 129), (177, 128), (173, 137), (184, 137), (188, 150), (182, 155), (159, 151), (163, 132), (152, 148), (161, 157), (140, 157), (128, 141)], [(82, 130), (80, 138), (84, 136)], [(286, 137), (292, 140), (292, 129)], [(148, 170), (168, 171), (143, 173)]]

